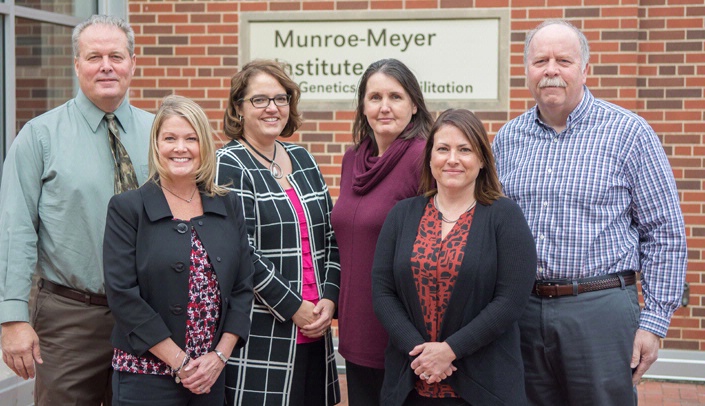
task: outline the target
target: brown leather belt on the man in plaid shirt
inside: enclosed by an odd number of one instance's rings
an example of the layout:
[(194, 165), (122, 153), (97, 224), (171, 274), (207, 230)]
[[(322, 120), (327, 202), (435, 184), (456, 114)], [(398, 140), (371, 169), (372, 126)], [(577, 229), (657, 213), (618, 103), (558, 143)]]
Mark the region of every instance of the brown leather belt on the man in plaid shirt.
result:
[(544, 279), (534, 283), (533, 294), (539, 297), (577, 296), (585, 292), (619, 288), (636, 283), (634, 271), (624, 271), (584, 279)]

